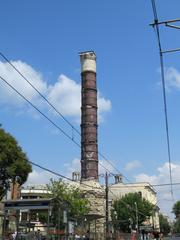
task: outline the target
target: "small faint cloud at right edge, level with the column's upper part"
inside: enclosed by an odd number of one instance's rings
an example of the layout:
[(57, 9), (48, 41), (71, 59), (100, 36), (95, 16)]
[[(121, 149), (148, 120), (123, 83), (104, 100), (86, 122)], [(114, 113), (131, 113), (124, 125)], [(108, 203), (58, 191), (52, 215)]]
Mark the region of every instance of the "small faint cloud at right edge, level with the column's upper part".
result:
[(166, 68), (165, 79), (167, 89), (176, 88), (180, 90), (180, 72), (177, 69), (173, 67)]

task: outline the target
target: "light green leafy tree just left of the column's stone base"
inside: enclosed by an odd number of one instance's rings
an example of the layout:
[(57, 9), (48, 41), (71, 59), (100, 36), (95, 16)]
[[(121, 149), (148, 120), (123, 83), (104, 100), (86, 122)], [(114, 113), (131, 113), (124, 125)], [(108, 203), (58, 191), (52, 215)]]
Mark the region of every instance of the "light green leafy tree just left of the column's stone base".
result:
[[(75, 186), (71, 186), (59, 179), (51, 182), (48, 190), (54, 199), (55, 215), (58, 215), (57, 209), (68, 209), (68, 215), (71, 218), (81, 218), (89, 212), (89, 201), (83, 198), (82, 193)], [(55, 217), (56, 218), (56, 217)]]

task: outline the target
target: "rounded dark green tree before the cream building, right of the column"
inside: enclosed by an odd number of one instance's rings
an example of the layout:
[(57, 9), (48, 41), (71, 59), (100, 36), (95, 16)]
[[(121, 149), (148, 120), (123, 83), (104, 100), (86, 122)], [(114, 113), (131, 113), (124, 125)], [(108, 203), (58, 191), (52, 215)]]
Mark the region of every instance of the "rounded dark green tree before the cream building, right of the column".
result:
[(153, 212), (154, 205), (142, 198), (139, 193), (128, 193), (115, 200), (111, 212), (116, 229), (130, 231), (146, 221)]

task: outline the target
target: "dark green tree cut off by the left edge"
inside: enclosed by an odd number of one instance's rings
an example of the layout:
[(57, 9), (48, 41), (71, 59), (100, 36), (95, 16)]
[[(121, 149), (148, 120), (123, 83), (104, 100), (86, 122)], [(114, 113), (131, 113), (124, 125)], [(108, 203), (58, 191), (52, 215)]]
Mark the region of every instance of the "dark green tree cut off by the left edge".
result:
[(28, 158), (16, 139), (0, 128), (0, 200), (11, 183), (22, 185), (31, 171)]

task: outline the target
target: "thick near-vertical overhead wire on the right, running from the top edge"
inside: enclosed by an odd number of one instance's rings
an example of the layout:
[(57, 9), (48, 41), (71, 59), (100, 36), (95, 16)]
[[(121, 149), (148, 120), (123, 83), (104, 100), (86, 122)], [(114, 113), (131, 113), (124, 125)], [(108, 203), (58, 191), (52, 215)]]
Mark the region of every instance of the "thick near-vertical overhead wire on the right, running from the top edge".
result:
[(162, 88), (163, 88), (165, 127), (166, 127), (166, 141), (167, 141), (168, 162), (169, 162), (170, 191), (171, 191), (171, 196), (173, 199), (171, 149), (170, 149), (169, 123), (168, 123), (168, 113), (167, 113), (167, 100), (166, 100), (167, 97), (166, 97), (166, 86), (165, 86), (164, 61), (163, 61), (163, 53), (162, 53), (162, 47), (161, 47), (160, 31), (159, 31), (159, 26), (158, 26), (158, 15), (157, 15), (157, 10), (156, 10), (155, 0), (151, 0), (151, 3), (152, 3), (153, 14), (154, 14), (154, 29), (156, 32), (158, 47), (159, 47), (161, 80), (162, 80)]

